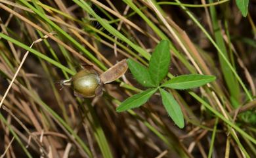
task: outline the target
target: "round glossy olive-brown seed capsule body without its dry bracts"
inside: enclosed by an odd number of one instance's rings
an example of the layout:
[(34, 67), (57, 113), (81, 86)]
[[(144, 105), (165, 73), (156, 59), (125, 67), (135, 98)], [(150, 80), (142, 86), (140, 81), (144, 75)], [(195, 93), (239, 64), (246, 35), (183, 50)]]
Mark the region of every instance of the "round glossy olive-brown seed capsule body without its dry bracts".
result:
[(93, 69), (83, 69), (72, 77), (71, 87), (78, 95), (94, 97), (100, 89), (100, 77)]

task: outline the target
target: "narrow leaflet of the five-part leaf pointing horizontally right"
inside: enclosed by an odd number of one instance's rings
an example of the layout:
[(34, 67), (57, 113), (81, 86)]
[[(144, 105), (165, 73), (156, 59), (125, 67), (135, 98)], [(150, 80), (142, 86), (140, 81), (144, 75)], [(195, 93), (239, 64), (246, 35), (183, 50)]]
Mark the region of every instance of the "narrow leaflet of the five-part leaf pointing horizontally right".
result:
[(163, 83), (161, 87), (168, 87), (170, 89), (193, 89), (215, 81), (216, 77), (213, 75), (179, 75)]

